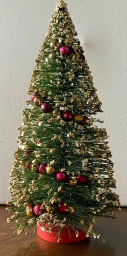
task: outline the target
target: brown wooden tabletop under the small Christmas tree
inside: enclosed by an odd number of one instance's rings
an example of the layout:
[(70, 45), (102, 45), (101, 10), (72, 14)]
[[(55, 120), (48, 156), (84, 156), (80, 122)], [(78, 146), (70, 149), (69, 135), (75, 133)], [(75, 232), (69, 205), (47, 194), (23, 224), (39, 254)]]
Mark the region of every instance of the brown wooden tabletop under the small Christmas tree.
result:
[(116, 211), (115, 220), (97, 220), (97, 226), (103, 233), (106, 243), (102, 239), (86, 239), (69, 245), (52, 244), (41, 240), (39, 237), (27, 247), (26, 245), (36, 237), (22, 234), (18, 237), (10, 230), (11, 224), (6, 224), (9, 217), (5, 206), (0, 206), (0, 255), (21, 256), (127, 256), (127, 208)]

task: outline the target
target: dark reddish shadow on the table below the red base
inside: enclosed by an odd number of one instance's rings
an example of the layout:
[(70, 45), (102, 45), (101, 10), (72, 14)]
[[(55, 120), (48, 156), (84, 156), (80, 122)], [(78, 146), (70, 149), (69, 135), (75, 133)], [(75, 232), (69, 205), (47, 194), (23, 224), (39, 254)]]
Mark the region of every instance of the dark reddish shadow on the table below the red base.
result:
[(36, 240), (39, 251), (42, 255), (49, 256), (116, 256), (115, 248), (112, 245), (104, 244), (101, 240), (87, 238), (81, 242), (74, 244), (53, 244), (41, 240), (39, 237)]

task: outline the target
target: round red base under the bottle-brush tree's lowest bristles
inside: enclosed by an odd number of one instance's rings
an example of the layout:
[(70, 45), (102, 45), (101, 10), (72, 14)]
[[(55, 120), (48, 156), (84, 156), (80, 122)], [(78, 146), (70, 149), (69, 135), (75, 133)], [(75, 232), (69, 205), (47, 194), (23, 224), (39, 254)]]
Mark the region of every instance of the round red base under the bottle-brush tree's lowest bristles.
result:
[(58, 224), (52, 228), (51, 233), (47, 233), (47, 230), (42, 231), (41, 224), (37, 224), (38, 236), (45, 241), (54, 242), (55, 244), (71, 244), (73, 242), (79, 242), (86, 239), (86, 234), (84, 233), (84, 231), (80, 230), (80, 228), (76, 228), (76, 230), (79, 232), (78, 237), (76, 237), (72, 227), (70, 227), (69, 225), (63, 226), (60, 233), (60, 241), (58, 242)]

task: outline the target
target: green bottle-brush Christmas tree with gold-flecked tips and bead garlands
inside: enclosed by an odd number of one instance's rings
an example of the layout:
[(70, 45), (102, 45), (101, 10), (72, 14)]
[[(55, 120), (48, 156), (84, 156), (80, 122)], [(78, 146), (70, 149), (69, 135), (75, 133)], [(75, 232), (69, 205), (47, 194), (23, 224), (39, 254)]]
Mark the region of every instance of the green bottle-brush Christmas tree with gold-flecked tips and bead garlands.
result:
[[(18, 235), (41, 223), (100, 237), (95, 217), (115, 218), (119, 197), (93, 78), (67, 4), (57, 4), (36, 59), (11, 171), (8, 222)], [(78, 232), (76, 233), (78, 235)]]

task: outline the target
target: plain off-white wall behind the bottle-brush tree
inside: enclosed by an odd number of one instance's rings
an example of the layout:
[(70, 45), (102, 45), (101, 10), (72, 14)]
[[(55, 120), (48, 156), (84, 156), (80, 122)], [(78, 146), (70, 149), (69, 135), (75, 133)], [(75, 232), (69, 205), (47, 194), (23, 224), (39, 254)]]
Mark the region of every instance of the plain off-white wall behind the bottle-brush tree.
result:
[[(0, 203), (10, 200), (9, 174), (34, 59), (44, 41), (55, 0), (0, 0)], [(66, 0), (94, 78), (110, 135), (117, 193), (127, 205), (127, 1)]]

